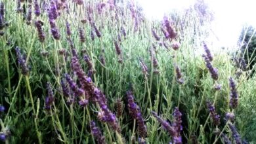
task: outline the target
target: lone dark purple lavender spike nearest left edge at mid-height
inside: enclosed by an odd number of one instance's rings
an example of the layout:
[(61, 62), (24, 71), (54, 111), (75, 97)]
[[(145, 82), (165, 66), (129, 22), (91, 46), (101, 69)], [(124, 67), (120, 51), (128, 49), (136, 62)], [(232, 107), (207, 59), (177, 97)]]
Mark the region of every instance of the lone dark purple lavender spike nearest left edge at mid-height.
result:
[(23, 56), (20, 53), (20, 48), (18, 46), (16, 46), (15, 50), (16, 50), (16, 56), (18, 58), (18, 63), (19, 63), (20, 68), (22, 70), (21, 71), (22, 75), (28, 75), (29, 69), (28, 69), (28, 66), (26, 64), (26, 57)]

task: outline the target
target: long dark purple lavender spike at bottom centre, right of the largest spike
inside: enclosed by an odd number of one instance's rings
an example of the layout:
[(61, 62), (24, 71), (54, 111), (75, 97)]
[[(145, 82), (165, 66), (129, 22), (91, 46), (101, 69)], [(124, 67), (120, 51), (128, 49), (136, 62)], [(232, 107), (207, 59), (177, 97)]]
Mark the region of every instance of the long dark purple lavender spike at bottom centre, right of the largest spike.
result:
[(131, 117), (137, 120), (139, 135), (140, 137), (146, 137), (146, 125), (144, 124), (144, 119), (142, 118), (142, 114), (140, 112), (140, 107), (134, 101), (133, 94), (129, 90), (127, 93), (127, 100), (128, 100), (128, 109)]

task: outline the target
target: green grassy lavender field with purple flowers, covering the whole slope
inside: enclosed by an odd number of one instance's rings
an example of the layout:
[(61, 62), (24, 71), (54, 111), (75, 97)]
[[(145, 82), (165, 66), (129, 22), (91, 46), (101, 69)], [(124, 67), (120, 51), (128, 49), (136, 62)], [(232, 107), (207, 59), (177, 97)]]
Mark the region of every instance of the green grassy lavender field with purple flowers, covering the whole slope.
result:
[[(41, 14), (36, 16), (35, 1), (2, 1), (3, 22), (9, 25), (1, 29), (0, 39), (3, 142), (256, 141), (256, 77), (249, 77), (249, 71), (236, 76), (232, 55), (217, 52), (210, 63), (218, 69), (218, 78), (212, 78), (198, 54), (209, 31), (200, 25), (196, 10), (167, 17), (177, 32), (169, 38), (161, 31), (166, 26), (144, 18), (132, 1), (79, 2), (38, 0)], [(49, 18), (51, 7), (59, 8), (56, 20)], [(43, 22), (44, 41), (39, 41), (37, 20)], [(238, 107), (230, 107), (230, 77)], [(207, 107), (207, 101), (212, 105)]]

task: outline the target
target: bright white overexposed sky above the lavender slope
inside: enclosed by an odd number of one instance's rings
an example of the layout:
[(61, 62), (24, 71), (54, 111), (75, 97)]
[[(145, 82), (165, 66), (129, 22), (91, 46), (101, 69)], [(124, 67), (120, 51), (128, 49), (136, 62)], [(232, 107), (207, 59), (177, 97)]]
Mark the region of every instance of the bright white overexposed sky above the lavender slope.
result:
[[(137, 0), (148, 18), (162, 20), (163, 15), (173, 9), (182, 10), (194, 4), (195, 0)], [(243, 24), (256, 27), (256, 0), (205, 0), (215, 12), (212, 23), (219, 41), (217, 46), (236, 45)]]

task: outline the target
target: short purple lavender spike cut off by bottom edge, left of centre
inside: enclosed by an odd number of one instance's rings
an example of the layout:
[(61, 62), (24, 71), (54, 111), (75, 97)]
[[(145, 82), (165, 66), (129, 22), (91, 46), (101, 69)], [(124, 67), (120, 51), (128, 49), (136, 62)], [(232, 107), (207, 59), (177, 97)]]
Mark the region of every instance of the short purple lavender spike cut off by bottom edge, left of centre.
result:
[(98, 128), (94, 121), (90, 122), (91, 127), (91, 134), (93, 134), (93, 137), (97, 141), (98, 144), (104, 144), (106, 143), (104, 135), (100, 132), (100, 128)]

